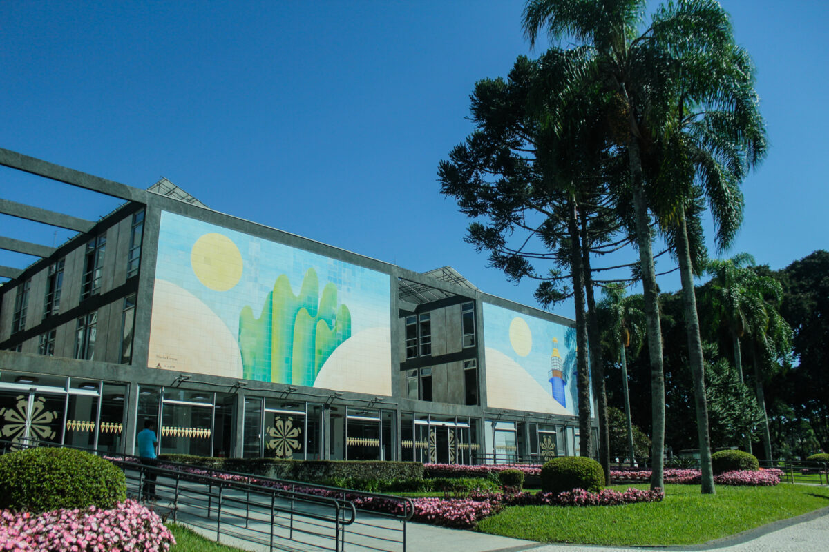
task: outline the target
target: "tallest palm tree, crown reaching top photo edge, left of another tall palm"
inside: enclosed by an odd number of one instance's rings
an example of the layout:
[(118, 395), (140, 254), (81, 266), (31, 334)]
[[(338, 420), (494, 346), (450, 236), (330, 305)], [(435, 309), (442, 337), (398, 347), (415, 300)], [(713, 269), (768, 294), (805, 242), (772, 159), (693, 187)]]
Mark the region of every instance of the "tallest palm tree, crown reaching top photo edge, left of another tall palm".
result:
[[(671, 79), (676, 52), (702, 57), (730, 37), (725, 12), (714, 0), (680, 2), (640, 31), (644, 0), (528, 0), (523, 26), (531, 45), (542, 31), (551, 41), (567, 37), (594, 52), (596, 76), (614, 98), (618, 148), (627, 152), (630, 193), (647, 314), (652, 381), (651, 487), (664, 487), (665, 382), (662, 332), (653, 263), (643, 157), (662, 136), (674, 112)], [(592, 77), (593, 75), (591, 75)], [(684, 213), (684, 210), (682, 211)]]

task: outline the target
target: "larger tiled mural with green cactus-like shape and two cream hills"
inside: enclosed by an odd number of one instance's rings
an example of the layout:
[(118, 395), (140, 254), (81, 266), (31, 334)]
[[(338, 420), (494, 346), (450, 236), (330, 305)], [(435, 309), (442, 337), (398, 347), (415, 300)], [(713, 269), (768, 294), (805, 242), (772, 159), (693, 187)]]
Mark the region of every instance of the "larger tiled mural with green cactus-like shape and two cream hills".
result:
[(150, 367), (390, 395), (390, 276), (162, 213)]

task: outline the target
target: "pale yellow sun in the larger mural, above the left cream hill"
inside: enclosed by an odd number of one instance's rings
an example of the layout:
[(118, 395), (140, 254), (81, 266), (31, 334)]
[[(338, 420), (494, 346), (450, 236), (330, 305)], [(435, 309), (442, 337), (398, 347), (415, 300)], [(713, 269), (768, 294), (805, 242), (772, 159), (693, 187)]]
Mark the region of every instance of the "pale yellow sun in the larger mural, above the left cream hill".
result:
[(205, 234), (196, 240), (190, 252), (193, 272), (211, 290), (227, 291), (242, 277), (242, 254), (227, 236)]

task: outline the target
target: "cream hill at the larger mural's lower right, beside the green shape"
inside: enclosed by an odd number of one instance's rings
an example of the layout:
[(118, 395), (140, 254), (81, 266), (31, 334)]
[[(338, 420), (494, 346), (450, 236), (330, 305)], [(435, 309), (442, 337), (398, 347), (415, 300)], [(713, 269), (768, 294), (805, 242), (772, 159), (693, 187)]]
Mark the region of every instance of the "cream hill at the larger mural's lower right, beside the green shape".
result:
[(334, 349), (313, 385), (337, 391), (391, 395), (390, 358), (389, 329), (364, 329)]

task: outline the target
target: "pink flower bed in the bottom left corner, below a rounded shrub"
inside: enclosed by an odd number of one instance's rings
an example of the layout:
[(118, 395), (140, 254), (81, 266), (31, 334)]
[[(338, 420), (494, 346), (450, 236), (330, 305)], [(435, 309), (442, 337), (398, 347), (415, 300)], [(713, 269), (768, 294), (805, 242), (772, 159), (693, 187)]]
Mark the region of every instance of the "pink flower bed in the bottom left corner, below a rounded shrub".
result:
[(0, 511), (0, 550), (167, 552), (176, 539), (158, 515), (133, 500), (111, 510)]

